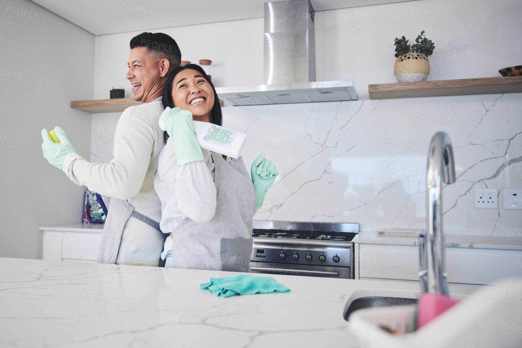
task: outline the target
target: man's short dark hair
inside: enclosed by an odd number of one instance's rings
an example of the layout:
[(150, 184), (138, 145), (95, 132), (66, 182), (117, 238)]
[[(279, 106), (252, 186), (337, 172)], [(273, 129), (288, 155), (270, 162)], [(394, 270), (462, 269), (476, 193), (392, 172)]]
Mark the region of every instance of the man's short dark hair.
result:
[(169, 59), (171, 68), (181, 64), (180, 47), (167, 34), (143, 32), (131, 39), (130, 46), (131, 50), (135, 47), (147, 47), (147, 50), (159, 53), (163, 58)]

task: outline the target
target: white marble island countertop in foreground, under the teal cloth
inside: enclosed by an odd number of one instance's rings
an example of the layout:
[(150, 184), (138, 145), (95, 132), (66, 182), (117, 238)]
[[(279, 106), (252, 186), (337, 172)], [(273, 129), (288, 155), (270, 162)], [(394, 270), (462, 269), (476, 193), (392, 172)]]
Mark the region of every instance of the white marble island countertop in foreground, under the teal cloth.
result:
[(289, 293), (220, 298), (200, 290), (211, 277), (233, 274), (0, 258), (0, 346), (357, 347), (343, 319), (350, 295), (419, 290), (408, 282), (281, 274), (270, 276)]

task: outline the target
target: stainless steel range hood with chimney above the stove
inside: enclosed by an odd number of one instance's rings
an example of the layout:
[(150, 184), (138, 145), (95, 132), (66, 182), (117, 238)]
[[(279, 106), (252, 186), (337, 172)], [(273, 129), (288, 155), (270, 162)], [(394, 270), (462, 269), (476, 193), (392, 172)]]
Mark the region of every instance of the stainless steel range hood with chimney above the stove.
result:
[(352, 80), (315, 81), (314, 10), (309, 0), (265, 3), (264, 85), (217, 87), (234, 106), (357, 100)]

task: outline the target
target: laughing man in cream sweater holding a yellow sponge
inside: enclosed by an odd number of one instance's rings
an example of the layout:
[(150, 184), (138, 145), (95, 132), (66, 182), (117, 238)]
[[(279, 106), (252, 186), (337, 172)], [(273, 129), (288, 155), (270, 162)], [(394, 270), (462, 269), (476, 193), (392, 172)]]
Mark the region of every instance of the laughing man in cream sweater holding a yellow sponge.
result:
[(114, 134), (114, 158), (109, 163), (90, 163), (82, 158), (60, 127), (60, 143), (42, 130), (43, 155), (77, 185), (110, 197), (110, 208), (98, 253), (98, 262), (159, 266), (164, 234), (159, 230), (161, 202), (153, 180), (164, 145), (158, 119), (161, 98), (170, 71), (180, 65), (181, 52), (174, 39), (163, 33), (144, 32), (131, 40), (129, 71), (134, 100), (144, 104), (128, 107)]

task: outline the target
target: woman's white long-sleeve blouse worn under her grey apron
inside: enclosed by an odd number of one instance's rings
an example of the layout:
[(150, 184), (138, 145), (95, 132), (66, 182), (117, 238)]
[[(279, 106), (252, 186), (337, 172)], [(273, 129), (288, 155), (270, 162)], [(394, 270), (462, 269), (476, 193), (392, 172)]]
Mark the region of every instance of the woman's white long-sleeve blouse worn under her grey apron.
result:
[[(154, 188), (161, 200), (160, 229), (170, 234), (184, 219), (198, 223), (208, 222), (216, 212), (216, 185), (214, 184), (214, 163), (210, 151), (203, 151), (204, 161), (196, 161), (177, 166), (176, 151), (172, 138), (160, 152), (158, 172)], [(161, 258), (172, 249), (172, 238), (165, 240)]]

